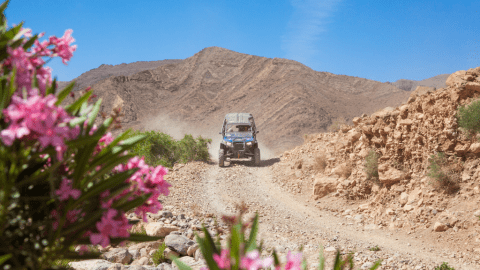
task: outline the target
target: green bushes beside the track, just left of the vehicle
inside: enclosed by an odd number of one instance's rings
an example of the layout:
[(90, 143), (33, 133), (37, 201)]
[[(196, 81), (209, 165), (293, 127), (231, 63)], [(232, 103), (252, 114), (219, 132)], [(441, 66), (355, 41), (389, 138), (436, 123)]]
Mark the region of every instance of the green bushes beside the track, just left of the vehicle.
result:
[(144, 156), (145, 162), (152, 166), (162, 165), (173, 167), (175, 163), (186, 163), (189, 161), (208, 161), (208, 144), (211, 139), (205, 139), (201, 136), (196, 139), (192, 135), (185, 135), (180, 141), (176, 141), (170, 135), (156, 132), (136, 131), (131, 136), (143, 135), (145, 138), (140, 141), (131, 152)]

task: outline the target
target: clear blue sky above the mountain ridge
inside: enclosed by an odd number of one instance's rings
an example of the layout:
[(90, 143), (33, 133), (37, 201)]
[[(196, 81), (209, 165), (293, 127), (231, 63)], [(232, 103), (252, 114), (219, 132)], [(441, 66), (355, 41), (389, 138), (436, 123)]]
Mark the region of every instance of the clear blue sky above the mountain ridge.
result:
[(11, 0), (6, 16), (46, 36), (73, 29), (68, 66), (49, 63), (61, 81), (210, 46), (382, 82), (480, 66), (480, 1)]

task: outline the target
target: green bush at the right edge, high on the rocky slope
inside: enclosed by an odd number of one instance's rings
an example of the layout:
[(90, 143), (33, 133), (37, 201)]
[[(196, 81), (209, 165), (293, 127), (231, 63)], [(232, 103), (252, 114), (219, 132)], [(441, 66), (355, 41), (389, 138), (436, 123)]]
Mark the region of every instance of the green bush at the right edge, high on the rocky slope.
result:
[(480, 132), (480, 100), (457, 109), (458, 126), (471, 138)]

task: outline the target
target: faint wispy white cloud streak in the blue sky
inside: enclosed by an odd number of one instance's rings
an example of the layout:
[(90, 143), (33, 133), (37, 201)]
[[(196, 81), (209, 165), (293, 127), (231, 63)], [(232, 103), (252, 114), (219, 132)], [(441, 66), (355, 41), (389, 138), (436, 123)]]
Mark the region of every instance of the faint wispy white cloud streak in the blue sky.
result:
[(285, 58), (308, 63), (317, 54), (316, 42), (341, 0), (292, 0), (295, 11), (282, 37)]

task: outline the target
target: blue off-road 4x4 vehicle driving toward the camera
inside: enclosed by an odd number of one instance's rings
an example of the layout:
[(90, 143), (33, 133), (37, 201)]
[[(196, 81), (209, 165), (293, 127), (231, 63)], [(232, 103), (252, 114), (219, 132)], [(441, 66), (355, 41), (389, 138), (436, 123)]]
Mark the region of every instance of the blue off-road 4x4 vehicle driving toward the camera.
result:
[(218, 165), (223, 167), (231, 159), (250, 159), (260, 165), (260, 149), (257, 142), (258, 130), (250, 113), (228, 113), (223, 120), (223, 141), (220, 143)]

